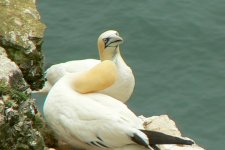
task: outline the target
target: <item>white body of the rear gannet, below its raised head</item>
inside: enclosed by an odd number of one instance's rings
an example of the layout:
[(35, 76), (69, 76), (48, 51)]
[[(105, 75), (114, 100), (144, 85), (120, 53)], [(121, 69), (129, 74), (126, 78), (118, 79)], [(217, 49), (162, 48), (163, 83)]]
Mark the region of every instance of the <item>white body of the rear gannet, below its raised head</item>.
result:
[[(117, 57), (118, 58), (115, 60), (118, 75), (117, 81), (112, 86), (99, 92), (114, 97), (115, 99), (125, 103), (133, 93), (135, 79), (130, 67), (125, 64), (120, 55)], [(85, 59), (53, 65), (46, 71), (47, 81), (43, 91), (47, 94), (52, 86), (65, 74), (87, 71), (99, 63), (100, 60)]]

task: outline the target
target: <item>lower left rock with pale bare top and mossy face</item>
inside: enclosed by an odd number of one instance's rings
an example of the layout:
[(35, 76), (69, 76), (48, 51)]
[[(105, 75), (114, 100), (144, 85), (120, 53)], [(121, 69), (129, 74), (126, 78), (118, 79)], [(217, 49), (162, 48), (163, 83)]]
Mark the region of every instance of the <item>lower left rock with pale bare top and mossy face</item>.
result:
[(0, 47), (0, 149), (44, 148), (34, 100), (19, 67)]

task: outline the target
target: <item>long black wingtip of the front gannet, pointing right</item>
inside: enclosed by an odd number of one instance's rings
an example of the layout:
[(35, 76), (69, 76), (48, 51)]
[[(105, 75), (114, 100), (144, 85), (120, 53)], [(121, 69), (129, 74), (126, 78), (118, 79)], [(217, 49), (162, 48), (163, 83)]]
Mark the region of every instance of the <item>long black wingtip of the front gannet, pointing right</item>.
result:
[(157, 131), (141, 130), (149, 138), (149, 144), (194, 144), (191, 140), (182, 139), (176, 136), (167, 135)]

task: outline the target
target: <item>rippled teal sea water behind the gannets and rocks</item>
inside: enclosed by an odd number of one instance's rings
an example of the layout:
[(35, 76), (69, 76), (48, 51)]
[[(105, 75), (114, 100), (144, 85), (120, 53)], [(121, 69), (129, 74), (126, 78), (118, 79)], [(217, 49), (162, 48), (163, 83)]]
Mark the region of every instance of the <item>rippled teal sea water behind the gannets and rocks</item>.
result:
[(224, 0), (37, 2), (46, 66), (98, 58), (97, 37), (115, 29), (136, 77), (129, 107), (168, 114), (200, 146), (225, 149)]

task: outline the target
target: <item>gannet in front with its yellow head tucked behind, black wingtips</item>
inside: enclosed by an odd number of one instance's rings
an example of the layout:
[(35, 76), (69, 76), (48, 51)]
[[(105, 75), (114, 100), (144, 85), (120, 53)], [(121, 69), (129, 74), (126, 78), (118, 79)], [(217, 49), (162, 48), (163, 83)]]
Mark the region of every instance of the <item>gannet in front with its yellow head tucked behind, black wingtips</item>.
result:
[(114, 84), (117, 75), (116, 62), (104, 60), (91, 70), (69, 73), (59, 79), (43, 106), (44, 117), (53, 131), (73, 147), (87, 150), (141, 150), (155, 144), (193, 144), (190, 140), (144, 130), (142, 121), (124, 103), (96, 92)]

